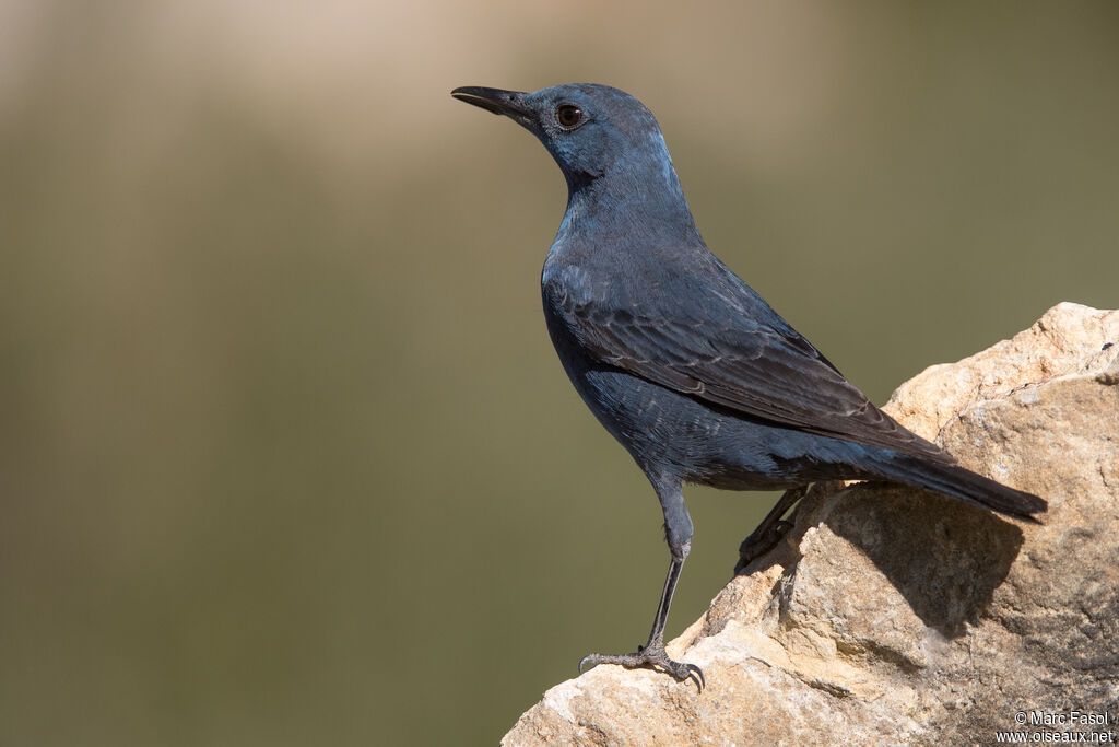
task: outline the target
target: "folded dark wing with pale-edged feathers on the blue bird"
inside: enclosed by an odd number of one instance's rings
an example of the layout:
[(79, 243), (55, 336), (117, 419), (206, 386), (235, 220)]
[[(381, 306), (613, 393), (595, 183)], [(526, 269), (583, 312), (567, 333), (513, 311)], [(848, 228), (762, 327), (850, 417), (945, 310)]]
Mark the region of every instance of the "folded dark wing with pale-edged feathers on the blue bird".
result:
[(952, 461), (874, 407), (756, 295), (772, 323), (752, 320), (736, 305), (720, 304), (723, 315), (680, 308), (669, 315), (579, 296), (560, 288), (548, 304), (601, 364), (747, 417)]

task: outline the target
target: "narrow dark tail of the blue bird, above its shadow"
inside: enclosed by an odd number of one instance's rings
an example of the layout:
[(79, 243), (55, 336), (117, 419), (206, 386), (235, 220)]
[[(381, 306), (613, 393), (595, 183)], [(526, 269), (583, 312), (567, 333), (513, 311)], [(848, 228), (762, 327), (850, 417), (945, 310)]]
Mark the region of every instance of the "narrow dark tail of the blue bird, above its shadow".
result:
[(1007, 487), (953, 464), (893, 452), (883, 473), (892, 480), (951, 495), (1016, 519), (1036, 522), (1034, 514), (1044, 513), (1049, 507), (1044, 498)]

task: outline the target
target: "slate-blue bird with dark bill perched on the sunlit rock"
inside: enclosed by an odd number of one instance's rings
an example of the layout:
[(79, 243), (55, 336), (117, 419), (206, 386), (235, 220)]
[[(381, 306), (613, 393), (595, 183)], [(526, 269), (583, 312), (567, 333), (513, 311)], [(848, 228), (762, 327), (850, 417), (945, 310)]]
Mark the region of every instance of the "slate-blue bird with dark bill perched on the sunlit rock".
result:
[(671, 560), (646, 645), (586, 664), (660, 669), (699, 690), (703, 672), (665, 652), (665, 623), (692, 547), (684, 483), (782, 489), (743, 542), (772, 548), (807, 484), (884, 479), (1032, 520), (1042, 498), (957, 466), (874, 407), (696, 230), (652, 113), (603, 85), (534, 93), (464, 86), (455, 99), (535, 134), (567, 179), (567, 211), (540, 283), (567, 375), (660, 498)]

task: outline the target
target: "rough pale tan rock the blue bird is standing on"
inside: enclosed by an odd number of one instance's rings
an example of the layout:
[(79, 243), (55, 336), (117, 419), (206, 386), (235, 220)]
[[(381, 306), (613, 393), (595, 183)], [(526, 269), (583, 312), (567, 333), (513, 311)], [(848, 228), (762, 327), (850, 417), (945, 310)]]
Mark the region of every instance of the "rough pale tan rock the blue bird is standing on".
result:
[(786, 540), (669, 644), (705, 691), (598, 666), (502, 744), (1119, 739), (1119, 311), (1061, 304), (886, 409), (1047, 498), (1043, 523), (896, 485), (816, 485)]

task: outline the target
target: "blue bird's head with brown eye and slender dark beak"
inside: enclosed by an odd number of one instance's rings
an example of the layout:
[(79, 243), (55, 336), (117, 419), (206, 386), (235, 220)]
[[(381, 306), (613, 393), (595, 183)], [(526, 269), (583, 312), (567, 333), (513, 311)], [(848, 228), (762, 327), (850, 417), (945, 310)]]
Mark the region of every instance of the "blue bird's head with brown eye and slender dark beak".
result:
[(610, 174), (631, 183), (656, 175), (674, 192), (679, 188), (657, 120), (624, 91), (571, 83), (533, 93), (463, 86), (451, 95), (504, 114), (539, 138), (572, 192)]

